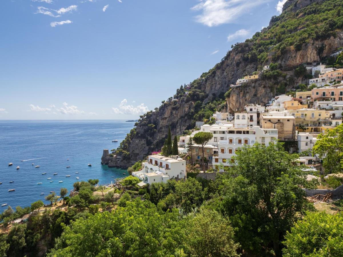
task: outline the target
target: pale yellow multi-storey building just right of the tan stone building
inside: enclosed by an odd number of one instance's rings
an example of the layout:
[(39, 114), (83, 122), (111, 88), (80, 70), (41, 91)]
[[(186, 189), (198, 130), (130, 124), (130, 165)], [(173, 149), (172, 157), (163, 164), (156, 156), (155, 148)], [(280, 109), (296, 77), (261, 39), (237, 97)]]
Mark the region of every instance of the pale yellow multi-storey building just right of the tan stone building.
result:
[(295, 118), (295, 129), (300, 132), (321, 132), (323, 125), (332, 123), (326, 110), (300, 109), (289, 110), (289, 113)]

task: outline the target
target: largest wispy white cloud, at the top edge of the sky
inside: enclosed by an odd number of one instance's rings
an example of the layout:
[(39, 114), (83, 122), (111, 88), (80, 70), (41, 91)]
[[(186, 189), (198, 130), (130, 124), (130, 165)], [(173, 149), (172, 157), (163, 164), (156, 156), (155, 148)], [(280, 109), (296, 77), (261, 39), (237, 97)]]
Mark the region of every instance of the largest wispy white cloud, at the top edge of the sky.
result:
[(195, 17), (196, 22), (213, 27), (224, 23), (238, 21), (241, 15), (247, 13), (250, 8), (262, 4), (266, 0), (200, 0), (191, 10), (201, 11)]

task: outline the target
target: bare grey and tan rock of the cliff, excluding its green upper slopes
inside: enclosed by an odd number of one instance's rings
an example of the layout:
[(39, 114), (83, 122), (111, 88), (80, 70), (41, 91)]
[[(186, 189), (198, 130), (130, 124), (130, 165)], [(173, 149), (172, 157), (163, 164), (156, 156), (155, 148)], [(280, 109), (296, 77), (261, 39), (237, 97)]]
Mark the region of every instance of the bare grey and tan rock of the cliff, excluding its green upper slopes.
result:
[[(293, 15), (294, 12), (301, 12), (301, 8), (315, 3), (320, 4), (325, 0), (288, 0), (284, 5), (283, 14), (276, 19), (273, 18), (268, 28), (263, 31), (272, 30), (277, 23), (287, 20), (287, 12)], [(300, 11), (299, 11), (300, 10)], [(303, 14), (297, 14), (304, 16)], [(286, 18), (285, 18), (286, 17)], [(297, 19), (297, 17), (293, 17)], [(277, 20), (279, 19), (279, 20)], [(306, 25), (306, 24), (305, 24)], [(299, 25), (294, 29), (298, 33), (303, 29), (304, 24)], [(262, 31), (262, 32), (263, 32)], [(261, 32), (261, 33), (262, 33)], [(255, 36), (254, 36), (255, 37)], [(253, 39), (254, 39), (253, 37)], [(205, 96), (199, 99), (202, 104), (213, 101), (214, 99), (224, 99), (226, 101), (228, 111), (244, 107), (247, 103), (257, 103), (265, 105), (275, 95), (279, 95), (289, 91), (299, 83), (308, 83), (308, 79), (304, 76), (295, 76), (294, 69), (304, 62), (318, 62), (323, 57), (330, 56), (333, 50), (343, 46), (343, 33), (336, 30), (334, 36), (321, 39), (310, 39), (300, 49), (295, 50), (293, 46), (286, 46), (281, 53), (278, 45), (283, 42), (273, 43), (273, 46), (268, 46), (264, 61), (260, 58), (251, 57), (254, 49), (254, 40), (247, 40), (234, 46), (234, 48), (226, 54), (220, 63), (215, 65), (204, 76), (197, 79), (197, 83), (193, 83), (197, 90), (200, 90)], [(259, 38), (260, 45), (263, 46), (265, 41), (275, 41), (275, 38)], [(276, 48), (276, 50), (273, 49)], [(270, 77), (260, 77), (259, 79), (246, 83), (244, 86), (233, 87), (230, 89), (230, 84), (235, 84), (238, 78), (247, 74), (252, 74), (258, 69), (261, 70), (263, 65), (269, 63), (277, 63), (278, 69), (282, 75)], [(171, 134), (180, 135), (184, 130), (194, 127), (193, 116), (196, 112), (196, 101), (189, 96), (179, 96), (177, 100), (170, 100), (164, 103), (153, 112), (148, 112), (141, 117), (135, 131), (128, 134), (125, 139), (125, 144), (122, 144), (120, 151), (117, 151), (115, 157), (104, 156), (103, 163), (110, 167), (127, 168), (136, 161), (143, 159), (152, 151), (157, 151), (163, 146), (167, 136), (168, 126), (170, 126)]]

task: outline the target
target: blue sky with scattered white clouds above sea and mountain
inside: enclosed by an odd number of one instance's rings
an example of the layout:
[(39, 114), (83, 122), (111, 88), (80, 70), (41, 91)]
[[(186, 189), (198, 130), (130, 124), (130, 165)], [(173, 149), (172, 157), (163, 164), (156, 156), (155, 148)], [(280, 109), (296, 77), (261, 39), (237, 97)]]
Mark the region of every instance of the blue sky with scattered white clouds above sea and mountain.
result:
[(139, 118), (284, 1), (2, 0), (0, 119)]

